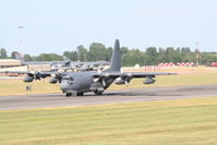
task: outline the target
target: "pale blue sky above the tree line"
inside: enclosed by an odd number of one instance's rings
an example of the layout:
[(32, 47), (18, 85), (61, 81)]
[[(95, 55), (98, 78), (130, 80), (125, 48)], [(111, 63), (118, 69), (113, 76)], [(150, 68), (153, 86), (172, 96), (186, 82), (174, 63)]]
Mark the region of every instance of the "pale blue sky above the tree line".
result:
[(0, 48), (39, 55), (103, 43), (217, 51), (217, 0), (0, 0)]

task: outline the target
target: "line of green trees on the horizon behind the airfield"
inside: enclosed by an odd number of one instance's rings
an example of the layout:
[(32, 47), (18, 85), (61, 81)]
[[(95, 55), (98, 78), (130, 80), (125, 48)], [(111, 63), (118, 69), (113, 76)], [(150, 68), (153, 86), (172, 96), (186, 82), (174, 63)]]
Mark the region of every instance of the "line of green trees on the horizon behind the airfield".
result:
[[(0, 49), (0, 59), (12, 58), (15, 59), (16, 51), (13, 51), (9, 57), (4, 48)], [(63, 55), (57, 53), (40, 53), (39, 56), (24, 55), (24, 61), (63, 61), (65, 58), (71, 61), (110, 61), (112, 53), (111, 47), (106, 47), (99, 43), (93, 43), (89, 48), (84, 46), (77, 46), (76, 50), (64, 51)], [(196, 50), (191, 50), (189, 47), (182, 48), (156, 48), (148, 47), (145, 51), (140, 49), (129, 49), (128, 47), (121, 47), (122, 65), (131, 67), (135, 64), (140, 65), (156, 65), (158, 63), (166, 62), (195, 62)], [(210, 62), (217, 62), (217, 52), (198, 52), (200, 64), (209, 64)]]

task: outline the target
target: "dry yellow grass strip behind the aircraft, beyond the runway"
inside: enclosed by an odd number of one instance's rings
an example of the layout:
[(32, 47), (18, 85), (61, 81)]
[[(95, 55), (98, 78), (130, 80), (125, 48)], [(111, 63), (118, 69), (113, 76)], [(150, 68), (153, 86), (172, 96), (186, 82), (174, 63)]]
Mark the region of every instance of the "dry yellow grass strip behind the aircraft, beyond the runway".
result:
[[(137, 71), (137, 70), (125, 70)], [(142, 71), (142, 70), (138, 70)], [(165, 69), (161, 72), (176, 72), (178, 75), (173, 76), (157, 76), (157, 82), (152, 85), (144, 85), (143, 78), (132, 80), (126, 85), (111, 85), (109, 89), (120, 88), (140, 88), (140, 87), (165, 87), (165, 86), (182, 86), (182, 85), (207, 85), (217, 84), (217, 69), (216, 68), (176, 68)], [(26, 92), (26, 83), (21, 80), (0, 81), (0, 96), (17, 95), (17, 94), (45, 94), (45, 93), (61, 93), (58, 84), (49, 84), (48, 80), (35, 81), (33, 90)]]

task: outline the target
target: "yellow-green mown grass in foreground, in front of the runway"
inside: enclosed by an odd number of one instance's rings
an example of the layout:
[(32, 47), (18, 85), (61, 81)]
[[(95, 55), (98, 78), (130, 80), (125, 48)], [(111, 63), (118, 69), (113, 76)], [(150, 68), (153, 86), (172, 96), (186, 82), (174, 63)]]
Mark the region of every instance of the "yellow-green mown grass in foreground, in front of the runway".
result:
[(1, 145), (216, 145), (217, 97), (0, 111)]

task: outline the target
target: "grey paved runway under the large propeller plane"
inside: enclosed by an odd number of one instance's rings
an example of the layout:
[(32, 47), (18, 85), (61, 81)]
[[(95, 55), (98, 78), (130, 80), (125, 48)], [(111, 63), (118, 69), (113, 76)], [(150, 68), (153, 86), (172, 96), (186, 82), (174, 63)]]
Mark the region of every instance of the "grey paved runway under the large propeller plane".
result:
[(65, 97), (63, 94), (0, 96), (0, 110), (155, 101), (210, 96), (217, 96), (217, 84), (106, 90), (101, 96), (95, 96), (92, 93), (77, 97)]

